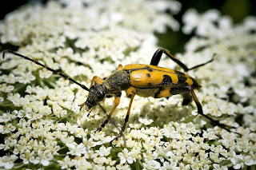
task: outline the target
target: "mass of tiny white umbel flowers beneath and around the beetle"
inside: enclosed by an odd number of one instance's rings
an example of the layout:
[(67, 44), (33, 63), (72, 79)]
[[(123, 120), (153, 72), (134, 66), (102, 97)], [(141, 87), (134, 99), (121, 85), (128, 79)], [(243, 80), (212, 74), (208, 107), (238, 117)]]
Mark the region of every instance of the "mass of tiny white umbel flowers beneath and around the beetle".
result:
[[(158, 49), (154, 31), (178, 30), (171, 14), (180, 8), (176, 1), (142, 0), (28, 4), (0, 22), (0, 42), (89, 86), (119, 64), (149, 64)], [(86, 90), (6, 53), (0, 63), (1, 168), (255, 168), (256, 18), (234, 25), (217, 10), (188, 10), (183, 22), (184, 34), (194, 31), (194, 37), (178, 59), (190, 68), (217, 53), (190, 72), (202, 85), (197, 95), (204, 113), (242, 136), (194, 118), (196, 105), (183, 107), (182, 97), (136, 96), (123, 137), (110, 144), (130, 99), (122, 97), (113, 121), (94, 133), (106, 114), (98, 106), (89, 117), (80, 110)], [(179, 69), (169, 58), (160, 66)], [(109, 113), (113, 98), (101, 105)]]

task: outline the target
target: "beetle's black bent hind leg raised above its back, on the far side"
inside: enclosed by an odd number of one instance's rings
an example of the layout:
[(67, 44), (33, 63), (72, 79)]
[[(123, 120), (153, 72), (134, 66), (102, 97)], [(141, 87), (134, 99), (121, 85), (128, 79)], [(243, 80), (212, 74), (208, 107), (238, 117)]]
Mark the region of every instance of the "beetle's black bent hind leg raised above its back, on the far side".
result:
[(179, 61), (176, 57), (174, 57), (168, 50), (166, 50), (166, 49), (158, 49), (155, 53), (154, 53), (154, 55), (153, 55), (153, 57), (152, 57), (152, 59), (151, 59), (151, 61), (150, 61), (150, 65), (158, 65), (158, 63), (159, 63), (159, 61), (160, 61), (160, 59), (161, 59), (161, 57), (162, 57), (162, 53), (165, 53), (168, 57), (170, 57), (170, 59), (172, 60), (172, 61), (174, 61), (174, 62), (176, 62), (180, 67), (182, 67), (182, 69), (184, 69), (186, 72), (187, 71), (189, 71), (189, 70), (191, 70), (191, 69), (196, 69), (196, 68), (198, 68), (198, 67), (201, 67), (202, 65), (206, 65), (207, 63), (209, 63), (209, 62), (211, 62), (211, 61), (214, 61), (214, 56), (215, 56), (215, 54), (216, 53), (214, 53), (214, 55), (213, 55), (213, 57), (210, 59), (210, 61), (206, 61), (205, 63), (202, 63), (202, 64), (200, 64), (200, 65), (195, 65), (194, 67), (192, 67), (192, 68), (187, 68), (187, 66), (186, 65), (184, 65), (183, 63), (182, 63), (182, 61)]

